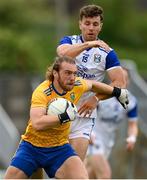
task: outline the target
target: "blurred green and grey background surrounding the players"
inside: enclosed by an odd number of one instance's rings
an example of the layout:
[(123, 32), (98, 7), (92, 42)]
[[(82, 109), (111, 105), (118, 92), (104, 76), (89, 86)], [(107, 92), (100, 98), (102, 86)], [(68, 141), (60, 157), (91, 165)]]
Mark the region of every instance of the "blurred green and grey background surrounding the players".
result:
[(44, 78), (61, 37), (79, 34), (83, 5), (104, 9), (100, 38), (115, 49), (131, 71), (131, 91), (139, 100), (140, 133), (136, 149), (124, 148), (120, 126), (110, 158), (113, 178), (147, 178), (147, 1), (1, 0), (0, 1), (0, 177), (8, 166), (29, 118), (32, 90)]

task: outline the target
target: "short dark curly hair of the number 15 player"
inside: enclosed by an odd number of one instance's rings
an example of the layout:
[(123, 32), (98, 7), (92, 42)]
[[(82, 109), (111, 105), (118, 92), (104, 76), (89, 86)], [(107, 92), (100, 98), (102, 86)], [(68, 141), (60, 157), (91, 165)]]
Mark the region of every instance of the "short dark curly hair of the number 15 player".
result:
[(80, 9), (79, 19), (82, 20), (83, 17), (95, 17), (100, 16), (100, 20), (103, 21), (103, 8), (97, 5), (87, 5)]

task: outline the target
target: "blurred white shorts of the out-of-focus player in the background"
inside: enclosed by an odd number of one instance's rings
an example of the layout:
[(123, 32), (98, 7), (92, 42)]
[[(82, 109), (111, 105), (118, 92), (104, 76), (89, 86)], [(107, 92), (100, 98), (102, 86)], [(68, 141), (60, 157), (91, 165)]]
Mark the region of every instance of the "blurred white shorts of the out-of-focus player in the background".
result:
[(109, 157), (114, 146), (114, 134), (96, 134), (93, 145), (88, 146), (87, 155), (102, 154)]

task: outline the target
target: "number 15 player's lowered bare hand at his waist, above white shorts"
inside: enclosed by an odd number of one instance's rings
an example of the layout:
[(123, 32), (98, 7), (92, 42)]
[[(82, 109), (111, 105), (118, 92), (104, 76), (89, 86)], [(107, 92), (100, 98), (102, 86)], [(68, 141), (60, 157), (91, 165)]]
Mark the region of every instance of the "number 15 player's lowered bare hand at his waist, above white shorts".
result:
[(90, 117), (91, 113), (93, 112), (93, 110), (96, 108), (97, 105), (98, 105), (98, 99), (95, 96), (91, 96), (81, 104), (80, 108), (78, 109), (78, 113), (82, 117)]

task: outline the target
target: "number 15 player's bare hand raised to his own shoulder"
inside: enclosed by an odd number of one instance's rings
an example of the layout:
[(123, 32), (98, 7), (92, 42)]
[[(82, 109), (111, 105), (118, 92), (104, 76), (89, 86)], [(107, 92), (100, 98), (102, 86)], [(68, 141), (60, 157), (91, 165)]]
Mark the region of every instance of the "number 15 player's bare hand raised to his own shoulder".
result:
[(96, 40), (96, 41), (89, 41), (89, 47), (102, 47), (104, 48), (106, 51), (110, 51), (111, 48), (109, 47), (108, 44), (106, 44), (104, 41), (102, 40)]

